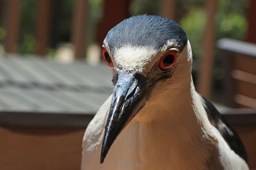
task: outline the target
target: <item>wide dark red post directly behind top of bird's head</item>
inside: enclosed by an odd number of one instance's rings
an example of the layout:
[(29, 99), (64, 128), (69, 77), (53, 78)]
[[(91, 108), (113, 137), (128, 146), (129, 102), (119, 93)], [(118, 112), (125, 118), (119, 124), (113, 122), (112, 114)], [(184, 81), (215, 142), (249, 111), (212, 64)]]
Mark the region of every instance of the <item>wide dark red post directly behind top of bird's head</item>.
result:
[(108, 31), (129, 17), (130, 0), (104, 0), (103, 16), (98, 27), (98, 43), (101, 46)]

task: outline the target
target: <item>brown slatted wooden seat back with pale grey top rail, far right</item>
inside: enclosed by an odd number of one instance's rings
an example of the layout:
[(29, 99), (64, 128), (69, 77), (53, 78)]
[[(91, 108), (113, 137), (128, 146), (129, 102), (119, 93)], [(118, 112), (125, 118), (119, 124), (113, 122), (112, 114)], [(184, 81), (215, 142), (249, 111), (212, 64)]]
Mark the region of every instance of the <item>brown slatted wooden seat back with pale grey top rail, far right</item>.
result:
[(221, 39), (218, 48), (225, 71), (227, 105), (256, 108), (256, 44)]

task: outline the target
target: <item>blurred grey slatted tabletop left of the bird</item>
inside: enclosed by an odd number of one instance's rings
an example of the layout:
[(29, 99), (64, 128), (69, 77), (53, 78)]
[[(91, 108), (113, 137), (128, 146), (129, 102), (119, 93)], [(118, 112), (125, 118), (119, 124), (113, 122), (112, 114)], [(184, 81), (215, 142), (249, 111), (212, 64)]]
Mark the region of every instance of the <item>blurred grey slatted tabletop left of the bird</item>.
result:
[(112, 92), (105, 64), (0, 58), (0, 111), (95, 114)]

